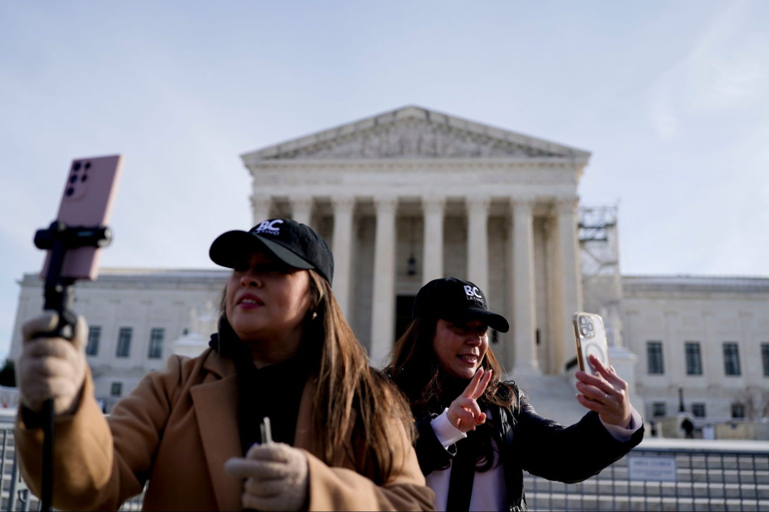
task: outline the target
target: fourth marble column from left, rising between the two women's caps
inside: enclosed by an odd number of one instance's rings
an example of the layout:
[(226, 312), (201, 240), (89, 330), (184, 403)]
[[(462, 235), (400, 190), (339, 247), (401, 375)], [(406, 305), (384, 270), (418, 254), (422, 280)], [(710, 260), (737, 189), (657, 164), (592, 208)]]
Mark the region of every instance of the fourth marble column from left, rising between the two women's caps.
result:
[(375, 199), (377, 228), (371, 304), (371, 365), (381, 368), (395, 341), (395, 213), (397, 197)]

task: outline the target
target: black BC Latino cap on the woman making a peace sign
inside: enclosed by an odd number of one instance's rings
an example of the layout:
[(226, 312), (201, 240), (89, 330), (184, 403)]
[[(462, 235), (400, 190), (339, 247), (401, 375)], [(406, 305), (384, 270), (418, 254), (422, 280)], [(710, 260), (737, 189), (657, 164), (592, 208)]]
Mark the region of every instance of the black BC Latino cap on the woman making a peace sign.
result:
[(510, 324), (504, 316), (488, 310), (486, 297), (478, 286), (456, 277), (433, 279), (421, 287), (414, 299), (411, 318), (421, 316), (455, 323), (481, 320), (495, 331), (510, 330)]

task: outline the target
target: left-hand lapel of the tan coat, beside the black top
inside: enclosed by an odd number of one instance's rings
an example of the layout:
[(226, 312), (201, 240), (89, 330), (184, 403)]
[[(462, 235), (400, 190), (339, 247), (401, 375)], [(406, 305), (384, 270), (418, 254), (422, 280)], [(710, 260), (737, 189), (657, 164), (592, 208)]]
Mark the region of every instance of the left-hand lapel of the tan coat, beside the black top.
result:
[[(208, 473), (219, 510), (241, 510), (243, 483), (225, 473), (230, 457), (241, 457), (238, 431), (238, 378), (227, 375), (190, 389)], [(190, 482), (194, 486), (195, 482)]]

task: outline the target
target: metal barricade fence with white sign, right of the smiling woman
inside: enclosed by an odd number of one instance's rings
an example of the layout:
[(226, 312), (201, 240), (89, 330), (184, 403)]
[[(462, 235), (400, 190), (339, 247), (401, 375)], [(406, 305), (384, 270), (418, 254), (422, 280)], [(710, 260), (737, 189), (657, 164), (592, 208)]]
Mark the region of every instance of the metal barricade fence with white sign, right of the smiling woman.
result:
[(600, 474), (527, 474), (529, 510), (769, 510), (769, 442), (644, 441)]

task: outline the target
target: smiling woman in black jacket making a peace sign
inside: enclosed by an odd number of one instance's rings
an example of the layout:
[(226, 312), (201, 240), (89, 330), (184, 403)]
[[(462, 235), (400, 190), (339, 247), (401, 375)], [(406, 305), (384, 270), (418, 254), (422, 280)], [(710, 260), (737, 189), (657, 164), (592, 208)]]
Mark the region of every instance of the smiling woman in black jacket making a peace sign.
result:
[(577, 372), (577, 399), (590, 411), (566, 428), (500, 380), (488, 327), (509, 329), (477, 286), (435, 279), (418, 292), (386, 369), (410, 402), (419, 464), (438, 510), (525, 510), (524, 470), (583, 481), (641, 442), (641, 416), (614, 368), (591, 356), (600, 376)]

